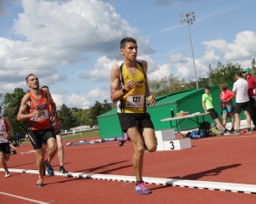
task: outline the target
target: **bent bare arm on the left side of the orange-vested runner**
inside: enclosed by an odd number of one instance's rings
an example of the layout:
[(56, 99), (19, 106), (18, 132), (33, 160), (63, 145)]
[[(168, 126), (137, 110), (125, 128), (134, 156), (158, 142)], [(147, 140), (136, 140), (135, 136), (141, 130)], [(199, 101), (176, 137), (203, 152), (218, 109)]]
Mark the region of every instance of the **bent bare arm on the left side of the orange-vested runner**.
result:
[(31, 117), (40, 116), (40, 112), (38, 110), (33, 111), (31, 114), (26, 114), (27, 106), (29, 106), (29, 95), (26, 94), (20, 102), (20, 110), (17, 115), (18, 121), (26, 121)]

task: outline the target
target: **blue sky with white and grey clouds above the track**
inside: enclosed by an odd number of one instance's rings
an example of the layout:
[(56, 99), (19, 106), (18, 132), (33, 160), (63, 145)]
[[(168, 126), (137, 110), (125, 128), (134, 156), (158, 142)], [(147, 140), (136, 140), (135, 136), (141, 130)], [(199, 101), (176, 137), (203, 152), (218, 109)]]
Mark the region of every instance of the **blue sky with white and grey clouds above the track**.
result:
[(57, 105), (110, 102), (110, 70), (122, 59), (119, 42), (137, 39), (148, 78), (174, 74), (195, 79), (208, 66), (230, 61), (251, 66), (256, 57), (255, 0), (0, 0), (0, 93), (26, 87), (35, 74)]

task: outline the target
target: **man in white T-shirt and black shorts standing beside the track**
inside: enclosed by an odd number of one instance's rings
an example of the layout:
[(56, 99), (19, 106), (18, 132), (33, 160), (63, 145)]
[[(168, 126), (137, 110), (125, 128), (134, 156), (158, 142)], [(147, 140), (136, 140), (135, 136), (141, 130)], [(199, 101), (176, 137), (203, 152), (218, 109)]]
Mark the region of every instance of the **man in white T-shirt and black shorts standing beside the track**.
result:
[(235, 108), (235, 118), (236, 118), (236, 131), (234, 134), (240, 134), (240, 113), (241, 110), (244, 111), (244, 115), (247, 118), (247, 129), (245, 133), (253, 133), (251, 129), (251, 116), (249, 115), (249, 97), (247, 94), (248, 83), (242, 78), (241, 71), (236, 72), (236, 82), (233, 85), (233, 94), (236, 95), (236, 108)]

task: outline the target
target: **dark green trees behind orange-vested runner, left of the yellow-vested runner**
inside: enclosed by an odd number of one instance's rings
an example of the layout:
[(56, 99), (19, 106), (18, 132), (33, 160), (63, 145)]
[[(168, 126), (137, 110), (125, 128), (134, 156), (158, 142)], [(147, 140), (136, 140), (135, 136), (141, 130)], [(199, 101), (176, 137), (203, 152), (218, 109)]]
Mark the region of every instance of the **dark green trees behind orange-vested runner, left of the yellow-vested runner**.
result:
[[(2, 116), (9, 118), (9, 122), (12, 124), (13, 133), (11, 133), (11, 139), (15, 139), (17, 132), (20, 132), (21, 136), (25, 138), (27, 132), (27, 122), (18, 122), (16, 116), (20, 109), (20, 102), (26, 93), (22, 88), (15, 88), (13, 94), (0, 94), (0, 105), (2, 106)], [(108, 104), (105, 99), (103, 103), (99, 101), (95, 102), (95, 105), (90, 109), (84, 110), (81, 108), (68, 108), (63, 104), (58, 107), (58, 115), (62, 123), (62, 129), (70, 131), (72, 127), (79, 126), (97, 126), (97, 116), (102, 115), (113, 109), (112, 104)]]

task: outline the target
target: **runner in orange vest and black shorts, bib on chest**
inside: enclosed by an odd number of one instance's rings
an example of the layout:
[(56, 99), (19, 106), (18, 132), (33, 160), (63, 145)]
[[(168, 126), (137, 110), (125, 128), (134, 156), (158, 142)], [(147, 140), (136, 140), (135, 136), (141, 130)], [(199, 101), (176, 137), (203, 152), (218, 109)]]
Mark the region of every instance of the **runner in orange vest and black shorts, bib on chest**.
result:
[[(30, 88), (30, 92), (21, 100), (17, 120), (28, 122), (29, 138), (37, 156), (39, 173), (37, 186), (41, 187), (44, 182), (44, 165), (49, 176), (54, 176), (54, 170), (49, 163), (55, 156), (56, 148), (56, 137), (51, 127), (51, 120), (56, 120), (59, 123), (59, 118), (51, 94), (48, 91), (39, 89), (38, 77), (33, 74), (28, 75), (26, 77), (26, 85)], [(52, 111), (50, 111), (50, 106)], [(27, 111), (28, 114), (26, 114)], [(48, 159), (45, 161), (43, 144), (48, 144), (49, 146)]]

